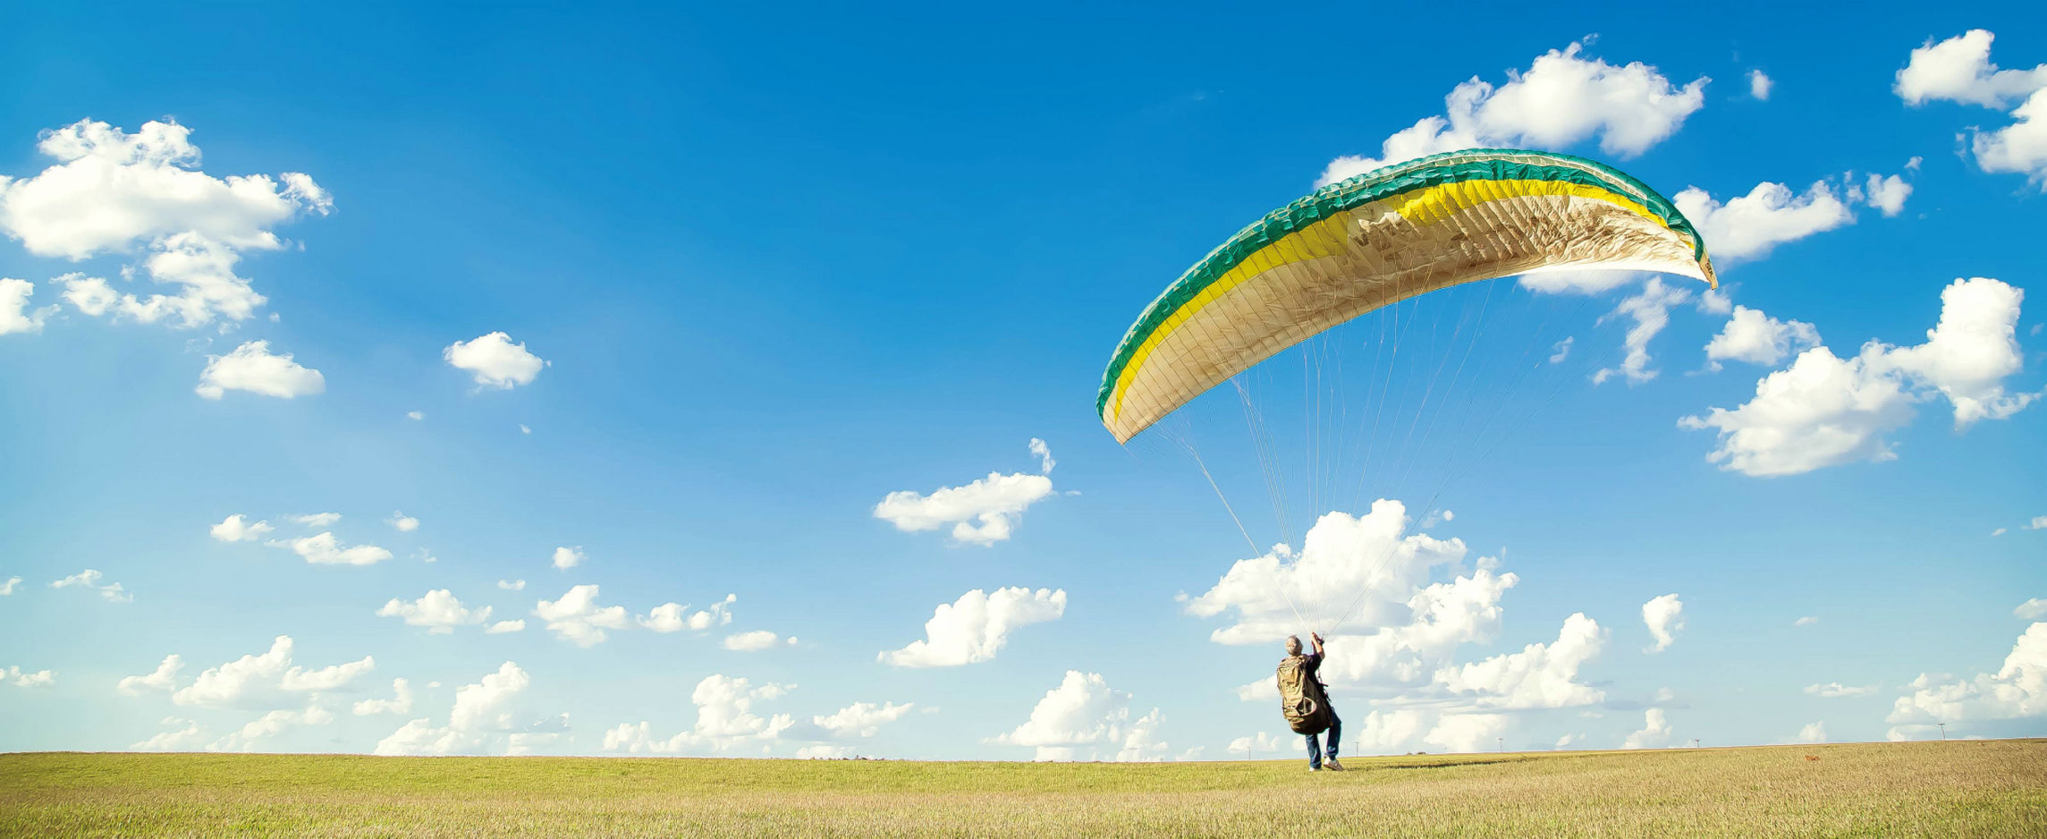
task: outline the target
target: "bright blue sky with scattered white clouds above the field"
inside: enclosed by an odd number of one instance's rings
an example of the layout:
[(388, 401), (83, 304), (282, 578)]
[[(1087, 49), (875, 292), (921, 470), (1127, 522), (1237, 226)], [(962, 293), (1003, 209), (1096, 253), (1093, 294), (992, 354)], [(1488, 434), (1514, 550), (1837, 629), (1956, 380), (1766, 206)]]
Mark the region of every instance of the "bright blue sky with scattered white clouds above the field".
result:
[[(16, 12), (0, 749), (1292, 755), (1275, 587), (1369, 604), (1347, 751), (2041, 735), (2035, 16), (1398, 14)], [(1228, 233), (1478, 143), (1674, 196), (1724, 295), (1333, 329), (1243, 379), (1283, 503), (1232, 389), (1099, 426)]]

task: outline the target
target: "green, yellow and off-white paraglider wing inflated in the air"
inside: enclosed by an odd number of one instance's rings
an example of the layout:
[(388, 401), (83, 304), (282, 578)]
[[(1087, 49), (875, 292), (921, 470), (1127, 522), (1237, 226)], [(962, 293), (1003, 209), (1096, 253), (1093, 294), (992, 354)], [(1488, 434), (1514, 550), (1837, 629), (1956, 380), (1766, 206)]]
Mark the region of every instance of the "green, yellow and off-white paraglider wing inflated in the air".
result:
[(1095, 411), (1118, 442), (1310, 336), (1462, 282), (1558, 268), (1717, 286), (1676, 207), (1605, 164), (1468, 149), (1329, 184), (1187, 268), (1130, 325)]

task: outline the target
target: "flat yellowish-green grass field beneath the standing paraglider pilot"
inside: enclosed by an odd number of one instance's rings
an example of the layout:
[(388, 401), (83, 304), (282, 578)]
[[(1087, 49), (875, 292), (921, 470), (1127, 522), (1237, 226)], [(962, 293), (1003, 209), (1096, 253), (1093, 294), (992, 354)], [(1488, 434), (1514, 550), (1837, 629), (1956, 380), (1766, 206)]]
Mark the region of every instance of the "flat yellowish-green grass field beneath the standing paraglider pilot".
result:
[(2047, 837), (2047, 741), (1304, 763), (0, 755), (0, 835)]

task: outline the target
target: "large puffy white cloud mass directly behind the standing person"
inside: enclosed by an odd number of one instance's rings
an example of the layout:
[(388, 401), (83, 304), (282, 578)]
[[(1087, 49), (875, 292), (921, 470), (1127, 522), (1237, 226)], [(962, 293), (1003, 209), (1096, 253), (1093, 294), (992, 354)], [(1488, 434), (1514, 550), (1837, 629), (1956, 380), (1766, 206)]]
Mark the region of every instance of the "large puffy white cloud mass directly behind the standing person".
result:
[[(1584, 614), (1564, 620), (1554, 641), (1482, 661), (1453, 661), (1457, 647), (1498, 634), (1500, 602), (1521, 577), (1500, 573), (1492, 557), (1478, 557), (1474, 567), (1466, 567), (1462, 542), (1406, 534), (1404, 528), (1404, 507), (1390, 499), (1380, 499), (1361, 518), (1322, 516), (1308, 532), (1306, 550), (1296, 555), (1277, 546), (1267, 557), (1236, 563), (1216, 589), (1187, 598), (1189, 612), (1218, 616), (1234, 610), (1236, 622), (1210, 638), (1273, 649), (1290, 632), (1306, 634), (1296, 610), (1324, 626), (1331, 620), (1341, 624), (1343, 632), (1326, 636), (1322, 679), (1339, 698), (1367, 694), (1378, 696), (1374, 702), (1394, 704), (1374, 708), (1378, 716), (1363, 722), (1349, 720), (1349, 733), (1363, 735), (1367, 751), (1462, 745), (1511, 720), (1494, 720), (1494, 710), (1605, 700), (1601, 688), (1578, 679), (1609, 638)], [(1449, 579), (1431, 581), (1437, 569)], [(1283, 593), (1292, 593), (1292, 604)], [(1236, 688), (1236, 696), (1265, 704), (1277, 692), (1267, 675)]]

